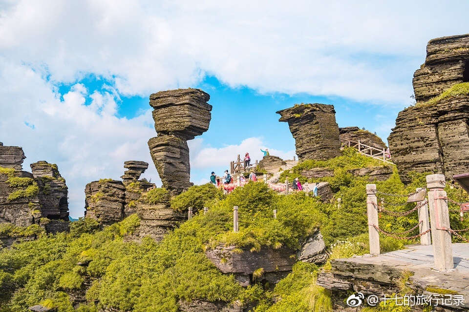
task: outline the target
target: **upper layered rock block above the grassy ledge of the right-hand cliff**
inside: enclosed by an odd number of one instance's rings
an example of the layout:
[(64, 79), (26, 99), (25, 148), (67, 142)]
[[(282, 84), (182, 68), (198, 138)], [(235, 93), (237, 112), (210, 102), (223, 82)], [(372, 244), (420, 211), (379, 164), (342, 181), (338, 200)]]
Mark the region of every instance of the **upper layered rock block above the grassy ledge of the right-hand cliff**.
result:
[(469, 82), (469, 34), (430, 40), (425, 64), (415, 71), (412, 82), (417, 102), (436, 97), (454, 84)]

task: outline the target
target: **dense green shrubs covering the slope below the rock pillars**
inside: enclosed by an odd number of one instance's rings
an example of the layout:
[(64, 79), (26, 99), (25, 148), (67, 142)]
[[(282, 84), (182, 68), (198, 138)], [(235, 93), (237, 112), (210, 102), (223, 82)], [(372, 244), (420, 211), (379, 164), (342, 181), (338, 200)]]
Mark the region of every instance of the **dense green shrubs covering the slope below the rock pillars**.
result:
[[(322, 203), (320, 198), (302, 192), (278, 195), (262, 182), (249, 182), (230, 195), (206, 184), (171, 199), (173, 209), (191, 206), (199, 213), (160, 243), (149, 237), (141, 243), (124, 240), (139, 226), (136, 215), (104, 230), (99, 230), (96, 221), (82, 218), (71, 224), (70, 233), (41, 233), (35, 241), (0, 251), (0, 312), (26, 312), (27, 307), (39, 303), (59, 312), (97, 312), (104, 307), (175, 312), (180, 300), (192, 299), (253, 303), (255, 312), (330, 311), (330, 294), (315, 285), (317, 273), (328, 270), (328, 263), (318, 268), (298, 262), (275, 288), (261, 283), (243, 288), (233, 275), (220, 273), (204, 253), (220, 244), (248, 248), (251, 252), (267, 247), (296, 249), (301, 239), (318, 228), (331, 258), (367, 253), (365, 187), (369, 181), (346, 170), (375, 165), (373, 159), (346, 149), (343, 156), (327, 162), (303, 162), (284, 173), (297, 175), (312, 166), (333, 169), (336, 175), (324, 179), (333, 186), (335, 198), (341, 197), (341, 208), (334, 200)], [(378, 191), (404, 195), (425, 186), (425, 175), (413, 175), (412, 183), (405, 187), (394, 172), (390, 179), (376, 184)], [(163, 189), (155, 190), (158, 191), (151, 190), (154, 194), (148, 192), (149, 204), (168, 199)], [(447, 191), (455, 200), (469, 201), (459, 188), (448, 186)], [(389, 208), (394, 211), (415, 206), (405, 204), (405, 197), (380, 196), (386, 203), (402, 204)], [(238, 233), (232, 231), (233, 206), (239, 207)], [(203, 207), (209, 207), (206, 215), (200, 213)], [(380, 226), (389, 232), (403, 232), (416, 222), (416, 212), (397, 218), (382, 214), (380, 218)], [(453, 228), (469, 226), (457, 214), (452, 215), (451, 222)], [(0, 228), (0, 233), (15, 231), (19, 230)], [(416, 233), (405, 235), (412, 234)], [(381, 238), (384, 252), (402, 248), (404, 243), (407, 241)], [(262, 274), (261, 268), (258, 273)], [(86, 296), (88, 304), (72, 307), (70, 299), (80, 295)]]

